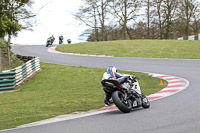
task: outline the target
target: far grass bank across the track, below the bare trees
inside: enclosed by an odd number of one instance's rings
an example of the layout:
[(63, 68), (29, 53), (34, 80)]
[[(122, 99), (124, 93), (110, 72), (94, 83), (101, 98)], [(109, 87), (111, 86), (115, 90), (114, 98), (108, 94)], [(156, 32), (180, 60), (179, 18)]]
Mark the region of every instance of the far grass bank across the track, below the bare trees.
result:
[(115, 57), (200, 59), (200, 41), (121, 40), (61, 45), (56, 50), (69, 53)]

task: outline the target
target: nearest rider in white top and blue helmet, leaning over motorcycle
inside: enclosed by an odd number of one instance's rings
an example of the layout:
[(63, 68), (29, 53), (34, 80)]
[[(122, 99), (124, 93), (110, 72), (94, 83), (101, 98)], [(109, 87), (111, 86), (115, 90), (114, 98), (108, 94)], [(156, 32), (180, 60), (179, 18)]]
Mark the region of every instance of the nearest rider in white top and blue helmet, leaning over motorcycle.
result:
[[(107, 71), (103, 74), (102, 80), (104, 80), (104, 79), (119, 79), (119, 78), (125, 78), (125, 82), (128, 82), (129, 80), (132, 80), (133, 78), (135, 78), (135, 76), (120, 74), (117, 72), (116, 67), (109, 66)], [(141, 93), (140, 86), (139, 86), (139, 83), (137, 80), (136, 80), (136, 82), (134, 82), (134, 85), (132, 86), (132, 88), (128, 88), (128, 89), (133, 89), (133, 88), (137, 89), (136, 91)], [(105, 104), (105, 106), (110, 106), (110, 104), (112, 103), (112, 101), (110, 100), (111, 96), (112, 96), (112, 92), (107, 92), (104, 87), (103, 87), (103, 90), (105, 92), (104, 104)]]

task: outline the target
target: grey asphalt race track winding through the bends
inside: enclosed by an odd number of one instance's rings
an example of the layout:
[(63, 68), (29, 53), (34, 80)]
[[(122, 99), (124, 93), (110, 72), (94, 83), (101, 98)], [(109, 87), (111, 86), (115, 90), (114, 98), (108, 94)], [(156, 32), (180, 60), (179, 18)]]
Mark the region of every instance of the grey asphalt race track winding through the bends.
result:
[(119, 110), (5, 133), (200, 133), (200, 60), (87, 57), (47, 52), (43, 45), (14, 46), (14, 53), (40, 61), (95, 68), (162, 73), (187, 79), (190, 85), (173, 96), (151, 102), (149, 109), (123, 114)]

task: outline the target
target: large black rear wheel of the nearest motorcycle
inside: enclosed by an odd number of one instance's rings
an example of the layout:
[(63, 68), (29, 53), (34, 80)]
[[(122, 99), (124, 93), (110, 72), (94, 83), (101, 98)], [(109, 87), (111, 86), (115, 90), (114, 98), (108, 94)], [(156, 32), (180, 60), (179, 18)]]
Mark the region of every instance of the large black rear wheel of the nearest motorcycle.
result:
[(124, 100), (124, 93), (115, 91), (112, 93), (112, 99), (117, 108), (123, 113), (129, 113), (132, 110), (132, 102)]

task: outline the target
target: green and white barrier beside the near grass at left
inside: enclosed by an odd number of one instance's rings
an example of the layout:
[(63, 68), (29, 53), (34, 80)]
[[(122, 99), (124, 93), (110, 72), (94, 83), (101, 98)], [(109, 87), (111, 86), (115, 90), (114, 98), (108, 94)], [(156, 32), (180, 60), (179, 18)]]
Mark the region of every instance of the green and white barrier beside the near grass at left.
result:
[(0, 73), (0, 90), (14, 89), (39, 70), (40, 61), (36, 57), (19, 67), (3, 71)]

